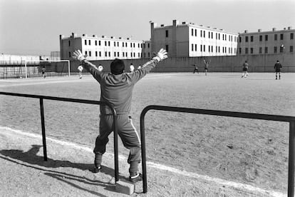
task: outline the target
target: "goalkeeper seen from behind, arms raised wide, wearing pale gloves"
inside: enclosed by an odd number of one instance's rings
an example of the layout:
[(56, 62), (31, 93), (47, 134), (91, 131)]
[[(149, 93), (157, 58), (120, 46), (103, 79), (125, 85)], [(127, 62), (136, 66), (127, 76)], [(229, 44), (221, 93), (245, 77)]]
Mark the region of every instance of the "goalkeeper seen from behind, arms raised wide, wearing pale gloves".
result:
[[(128, 156), (129, 180), (133, 183), (142, 181), (142, 175), (138, 173), (138, 163), (140, 163), (140, 138), (129, 116), (131, 108), (131, 98), (133, 87), (150, 72), (159, 61), (167, 58), (167, 51), (160, 49), (152, 60), (145, 63), (141, 69), (133, 73), (125, 73), (125, 64), (121, 59), (115, 59), (110, 64), (110, 73), (102, 72), (103, 67), (95, 67), (86, 60), (80, 50), (73, 52), (73, 58), (81, 61), (84, 69), (93, 75), (94, 79), (100, 84), (100, 101), (110, 103), (117, 112), (118, 135), (123, 141), (125, 148), (130, 150)], [(113, 116), (108, 106), (100, 106), (100, 133), (95, 140), (94, 173), (101, 169), (103, 153), (108, 143), (108, 136), (113, 131)]]

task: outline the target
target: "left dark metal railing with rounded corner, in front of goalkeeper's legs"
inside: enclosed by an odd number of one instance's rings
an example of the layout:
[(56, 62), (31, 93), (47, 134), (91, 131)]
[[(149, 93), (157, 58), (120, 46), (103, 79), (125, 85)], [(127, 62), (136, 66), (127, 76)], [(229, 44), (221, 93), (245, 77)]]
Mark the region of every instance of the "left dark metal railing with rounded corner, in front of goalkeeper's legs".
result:
[(76, 98), (62, 98), (62, 97), (53, 97), (53, 96), (40, 96), (40, 95), (32, 95), (32, 94), (16, 94), (0, 91), (0, 94), (9, 95), (9, 96), (21, 96), (21, 97), (29, 97), (29, 98), (39, 98), (40, 99), (40, 113), (41, 113), (41, 127), (42, 127), (42, 141), (43, 141), (43, 158), (44, 161), (47, 161), (47, 148), (46, 148), (46, 134), (45, 134), (45, 121), (44, 121), (44, 108), (43, 108), (43, 100), (54, 100), (54, 101), (68, 101), (73, 103), (88, 103), (95, 105), (105, 105), (108, 106), (113, 113), (113, 131), (114, 131), (114, 160), (115, 160), (115, 181), (119, 181), (119, 166), (118, 166), (118, 131), (117, 131), (117, 113), (113, 106), (110, 103), (106, 103), (103, 101), (90, 101), (84, 99), (76, 99)]

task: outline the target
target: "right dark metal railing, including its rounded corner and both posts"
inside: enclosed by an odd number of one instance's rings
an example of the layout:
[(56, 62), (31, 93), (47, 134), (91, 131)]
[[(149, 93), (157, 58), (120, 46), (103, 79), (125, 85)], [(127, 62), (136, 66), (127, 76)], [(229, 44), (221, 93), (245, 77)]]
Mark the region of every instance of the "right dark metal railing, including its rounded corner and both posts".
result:
[(177, 111), (184, 113), (200, 113), (214, 116), (228, 116), (237, 118), (252, 118), (266, 121), (284, 121), (289, 122), (289, 170), (288, 170), (288, 196), (294, 196), (294, 159), (295, 159), (295, 117), (294, 116), (276, 116), (262, 113), (242, 113), (234, 111), (216, 111), (200, 108), (181, 108), (172, 106), (146, 106), (140, 113), (140, 138), (143, 166), (143, 193), (148, 192), (146, 155), (145, 155), (145, 114), (150, 110), (158, 111)]

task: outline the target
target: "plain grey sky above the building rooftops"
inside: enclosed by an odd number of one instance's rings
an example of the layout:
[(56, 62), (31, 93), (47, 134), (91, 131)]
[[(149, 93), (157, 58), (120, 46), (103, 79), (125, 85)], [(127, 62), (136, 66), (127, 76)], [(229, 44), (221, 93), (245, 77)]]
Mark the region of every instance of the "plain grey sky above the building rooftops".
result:
[(50, 56), (59, 35), (150, 39), (172, 20), (232, 33), (295, 29), (294, 0), (0, 0), (0, 54)]

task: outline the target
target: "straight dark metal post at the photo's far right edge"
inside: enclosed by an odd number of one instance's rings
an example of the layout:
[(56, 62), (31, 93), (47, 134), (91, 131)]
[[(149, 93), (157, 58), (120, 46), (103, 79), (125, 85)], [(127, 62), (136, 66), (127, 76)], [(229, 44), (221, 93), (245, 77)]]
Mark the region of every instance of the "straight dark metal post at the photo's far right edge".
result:
[(295, 159), (295, 121), (290, 121), (289, 130), (289, 171), (288, 171), (288, 197), (294, 196), (294, 159)]

